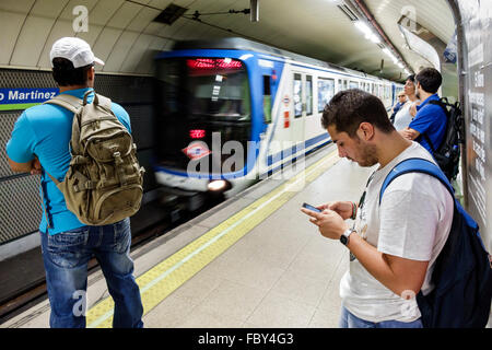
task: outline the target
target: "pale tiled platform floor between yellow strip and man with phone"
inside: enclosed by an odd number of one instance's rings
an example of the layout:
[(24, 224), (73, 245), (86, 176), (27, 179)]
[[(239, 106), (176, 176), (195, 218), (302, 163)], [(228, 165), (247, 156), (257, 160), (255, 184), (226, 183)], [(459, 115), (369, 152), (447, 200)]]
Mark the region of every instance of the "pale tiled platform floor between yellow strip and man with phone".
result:
[(358, 200), (371, 171), (340, 160), (149, 312), (145, 326), (337, 327), (348, 250), (300, 207)]

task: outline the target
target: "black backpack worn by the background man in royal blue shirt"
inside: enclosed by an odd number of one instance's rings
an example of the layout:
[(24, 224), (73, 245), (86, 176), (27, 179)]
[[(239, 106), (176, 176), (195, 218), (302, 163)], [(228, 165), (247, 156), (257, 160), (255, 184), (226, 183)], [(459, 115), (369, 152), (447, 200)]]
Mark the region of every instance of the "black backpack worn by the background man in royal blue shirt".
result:
[(437, 149), (432, 144), (432, 141), (426, 133), (423, 133), (422, 137), (431, 147), (435, 162), (449, 182), (452, 182), (459, 172), (460, 144), (465, 142), (465, 119), (459, 102), (450, 104), (446, 97), (443, 97), (440, 101), (432, 100), (429, 103), (438, 105), (444, 109), (447, 117), (446, 133)]

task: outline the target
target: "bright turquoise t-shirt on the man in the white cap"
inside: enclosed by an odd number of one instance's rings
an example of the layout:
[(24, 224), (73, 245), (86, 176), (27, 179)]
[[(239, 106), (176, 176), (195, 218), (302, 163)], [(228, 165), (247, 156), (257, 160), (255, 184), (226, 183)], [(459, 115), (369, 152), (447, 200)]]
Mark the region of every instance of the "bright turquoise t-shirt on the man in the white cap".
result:
[[(79, 98), (92, 88), (63, 92)], [(91, 103), (94, 94), (89, 95)], [(112, 110), (121, 124), (131, 132), (130, 117), (118, 104), (112, 103)], [(48, 172), (58, 180), (63, 180), (70, 164), (69, 142), (72, 135), (73, 113), (51, 104), (31, 107), (17, 118), (12, 137), (7, 143), (7, 154), (16, 163), (27, 163), (37, 155), (42, 166), (42, 200), (49, 218), (47, 228), (46, 214), (39, 224), (40, 232), (56, 234), (84, 226), (77, 217), (67, 209), (63, 194), (46, 174)], [(44, 192), (44, 198), (43, 198)]]

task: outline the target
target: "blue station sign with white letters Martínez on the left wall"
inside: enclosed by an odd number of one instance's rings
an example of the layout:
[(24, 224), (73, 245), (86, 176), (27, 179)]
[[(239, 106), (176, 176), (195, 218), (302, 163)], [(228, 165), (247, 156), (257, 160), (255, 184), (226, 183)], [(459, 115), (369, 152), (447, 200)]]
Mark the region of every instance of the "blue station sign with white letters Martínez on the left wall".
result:
[(58, 88), (0, 89), (0, 110), (26, 109), (55, 97)]

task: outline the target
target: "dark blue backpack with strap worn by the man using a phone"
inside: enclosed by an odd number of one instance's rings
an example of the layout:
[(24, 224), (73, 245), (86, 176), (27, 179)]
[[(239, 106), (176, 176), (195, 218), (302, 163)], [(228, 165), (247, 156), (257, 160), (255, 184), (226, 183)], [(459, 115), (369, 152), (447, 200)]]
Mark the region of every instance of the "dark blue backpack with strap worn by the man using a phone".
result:
[[(385, 178), (379, 205), (388, 185), (407, 173), (434, 176), (454, 197), (454, 189), (434, 163), (423, 159), (408, 159), (397, 164)], [(477, 222), (455, 199), (449, 236), (440, 253), (427, 295), (417, 295), (417, 304), (425, 328), (483, 328), (492, 300), (492, 260), (483, 246)]]

